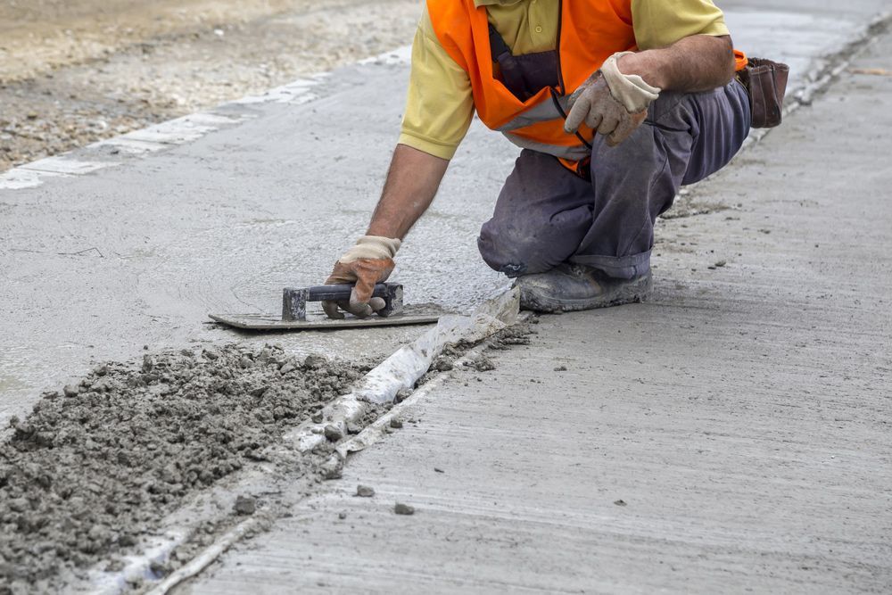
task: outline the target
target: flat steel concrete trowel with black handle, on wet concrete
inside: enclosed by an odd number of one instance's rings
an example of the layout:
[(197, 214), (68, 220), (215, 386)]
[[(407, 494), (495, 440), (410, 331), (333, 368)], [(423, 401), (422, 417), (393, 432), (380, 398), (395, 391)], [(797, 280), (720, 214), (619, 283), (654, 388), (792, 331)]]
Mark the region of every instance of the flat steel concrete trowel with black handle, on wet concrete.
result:
[(359, 326), (424, 325), (436, 322), (440, 316), (430, 309), (407, 308), (402, 303), (402, 285), (379, 283), (372, 297), (384, 298), (384, 309), (368, 318), (345, 314), (343, 319), (328, 318), (321, 306), (308, 311), (310, 302), (347, 302), (353, 285), (317, 285), (295, 289), (286, 287), (282, 294), (282, 316), (275, 314), (211, 314), (212, 320), (227, 326), (251, 331), (312, 330), (325, 328), (356, 328)]

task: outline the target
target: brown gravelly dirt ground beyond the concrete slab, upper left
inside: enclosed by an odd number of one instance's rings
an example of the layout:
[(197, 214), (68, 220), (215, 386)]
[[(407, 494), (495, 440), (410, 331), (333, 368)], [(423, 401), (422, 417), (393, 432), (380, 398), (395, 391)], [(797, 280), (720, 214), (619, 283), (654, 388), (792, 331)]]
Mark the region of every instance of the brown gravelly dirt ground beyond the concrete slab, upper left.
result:
[(0, 0), (0, 171), (411, 42), (417, 0)]

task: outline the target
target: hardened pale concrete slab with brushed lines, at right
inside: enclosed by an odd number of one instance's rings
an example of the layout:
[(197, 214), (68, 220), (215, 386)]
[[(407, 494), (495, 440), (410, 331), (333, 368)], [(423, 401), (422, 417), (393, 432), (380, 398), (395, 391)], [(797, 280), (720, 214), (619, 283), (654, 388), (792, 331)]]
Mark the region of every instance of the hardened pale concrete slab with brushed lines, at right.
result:
[(890, 102), (844, 73), (664, 221), (654, 299), (541, 318), (179, 592), (892, 590)]

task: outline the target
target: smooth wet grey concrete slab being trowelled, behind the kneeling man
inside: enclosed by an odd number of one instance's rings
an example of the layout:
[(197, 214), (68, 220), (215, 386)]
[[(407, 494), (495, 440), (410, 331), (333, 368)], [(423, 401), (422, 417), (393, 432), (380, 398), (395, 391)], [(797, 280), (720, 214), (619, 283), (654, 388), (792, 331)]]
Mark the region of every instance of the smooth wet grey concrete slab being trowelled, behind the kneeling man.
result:
[[(802, 65), (795, 84), (807, 62), (838, 49), (887, 3), (723, 7), (739, 47)], [(137, 158), (128, 153), (137, 142), (121, 141), (54, 158), (54, 172), (117, 167), (73, 178), (12, 170), (24, 186), (38, 186), (0, 189), (0, 426), (41, 391), (95, 361), (139, 359), (143, 345), (277, 341), (300, 353), (377, 359), (413, 338), (407, 328), (249, 339), (205, 318), (276, 311), (282, 287), (327, 276), (368, 223), (406, 79), (399, 59), (367, 62), (199, 114), (199, 128), (240, 123), (186, 145), (148, 144)], [(178, 130), (198, 126), (183, 120)], [(468, 310), (504, 285), (480, 260), (475, 237), (516, 153), (499, 135), (472, 128), (400, 253), (393, 278), (406, 284), (407, 301)]]

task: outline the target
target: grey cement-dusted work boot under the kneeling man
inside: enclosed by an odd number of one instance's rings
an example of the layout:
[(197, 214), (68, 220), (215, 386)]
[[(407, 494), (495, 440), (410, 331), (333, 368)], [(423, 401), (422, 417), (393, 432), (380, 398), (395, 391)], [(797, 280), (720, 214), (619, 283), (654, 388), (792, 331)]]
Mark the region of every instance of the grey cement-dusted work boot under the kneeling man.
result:
[(517, 277), (521, 310), (571, 312), (640, 302), (650, 292), (650, 271), (633, 279), (607, 277), (579, 264), (564, 263), (547, 273)]

